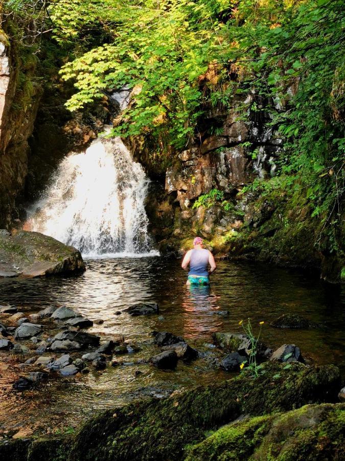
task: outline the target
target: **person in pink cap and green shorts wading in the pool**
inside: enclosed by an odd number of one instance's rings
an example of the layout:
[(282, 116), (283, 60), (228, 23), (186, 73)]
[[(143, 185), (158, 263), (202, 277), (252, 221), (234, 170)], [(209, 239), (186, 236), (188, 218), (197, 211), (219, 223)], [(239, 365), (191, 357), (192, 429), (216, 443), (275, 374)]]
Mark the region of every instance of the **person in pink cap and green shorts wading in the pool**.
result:
[[(188, 250), (182, 261), (182, 269), (188, 270), (187, 285), (209, 285), (210, 274), (216, 270), (215, 259), (206, 248), (202, 248), (202, 238), (195, 237), (194, 248)], [(209, 268), (210, 266), (210, 268)]]

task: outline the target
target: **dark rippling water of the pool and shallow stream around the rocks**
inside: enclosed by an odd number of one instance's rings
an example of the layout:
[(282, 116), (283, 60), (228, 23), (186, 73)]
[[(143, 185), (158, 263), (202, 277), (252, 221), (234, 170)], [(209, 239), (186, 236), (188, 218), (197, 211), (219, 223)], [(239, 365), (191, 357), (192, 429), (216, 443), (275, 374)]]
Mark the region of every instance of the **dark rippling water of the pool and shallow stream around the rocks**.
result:
[[(239, 320), (250, 317), (254, 325), (265, 321), (262, 339), (271, 347), (295, 343), (307, 358), (321, 364), (336, 363), (344, 370), (344, 289), (340, 286), (265, 265), (222, 261), (210, 288), (193, 288), (186, 287), (186, 274), (179, 264), (179, 260), (162, 257), (86, 259), (86, 272), (76, 277), (1, 279), (0, 304), (14, 304), (30, 312), (66, 305), (91, 320), (104, 320), (88, 329), (104, 338), (122, 334), (129, 342), (142, 343), (151, 338), (152, 330), (165, 330), (199, 348), (212, 342), (214, 331), (241, 332)], [(143, 301), (157, 302), (160, 316), (116, 314)], [(286, 312), (324, 328), (281, 330), (269, 326)], [(137, 395), (160, 396), (174, 388), (228, 376), (213, 368), (212, 361), (179, 362), (171, 372), (148, 364), (133, 365), (134, 359), (157, 352), (152, 346), (143, 347), (141, 352), (121, 358), (127, 365), (109, 367), (102, 374), (91, 372), (80, 379), (52, 380), (19, 397), (9, 390), (11, 383), (4, 381), (1, 392), (6, 401), (2, 399), (0, 426), (13, 427), (20, 422), (43, 432), (61, 422), (64, 427), (77, 426), (95, 410), (123, 405)], [(143, 373), (135, 377), (135, 370)]]

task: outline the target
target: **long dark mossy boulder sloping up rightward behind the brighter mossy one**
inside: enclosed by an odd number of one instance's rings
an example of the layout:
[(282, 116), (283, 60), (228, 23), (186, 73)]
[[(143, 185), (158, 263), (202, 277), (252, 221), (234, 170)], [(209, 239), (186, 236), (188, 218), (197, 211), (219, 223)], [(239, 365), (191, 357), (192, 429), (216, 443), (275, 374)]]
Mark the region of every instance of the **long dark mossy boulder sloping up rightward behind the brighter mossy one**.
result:
[(267, 363), (264, 370), (257, 379), (242, 373), (222, 384), (105, 411), (81, 429), (70, 457), (183, 459), (187, 444), (201, 442), (205, 431), (242, 413), (263, 415), (336, 399), (340, 378), (332, 365), (308, 368), (293, 363), (284, 370)]

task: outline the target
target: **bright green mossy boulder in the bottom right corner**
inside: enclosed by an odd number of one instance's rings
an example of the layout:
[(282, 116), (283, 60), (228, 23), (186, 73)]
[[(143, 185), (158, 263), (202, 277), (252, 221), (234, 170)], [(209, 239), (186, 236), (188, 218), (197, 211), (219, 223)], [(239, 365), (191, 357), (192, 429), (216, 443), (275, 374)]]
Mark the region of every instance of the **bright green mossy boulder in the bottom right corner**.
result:
[(187, 453), (186, 461), (344, 459), (345, 404), (306, 405), (229, 424)]

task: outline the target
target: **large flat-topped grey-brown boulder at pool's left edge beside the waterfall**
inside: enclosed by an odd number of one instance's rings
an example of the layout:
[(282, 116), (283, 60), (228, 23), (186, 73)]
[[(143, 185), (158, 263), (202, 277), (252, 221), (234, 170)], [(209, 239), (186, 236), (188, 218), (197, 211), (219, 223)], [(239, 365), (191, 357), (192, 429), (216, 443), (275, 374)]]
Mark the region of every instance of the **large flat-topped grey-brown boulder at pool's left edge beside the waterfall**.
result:
[(0, 276), (44, 277), (85, 270), (80, 252), (38, 232), (0, 231)]

